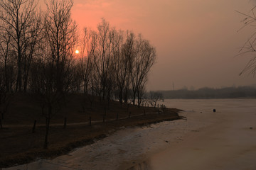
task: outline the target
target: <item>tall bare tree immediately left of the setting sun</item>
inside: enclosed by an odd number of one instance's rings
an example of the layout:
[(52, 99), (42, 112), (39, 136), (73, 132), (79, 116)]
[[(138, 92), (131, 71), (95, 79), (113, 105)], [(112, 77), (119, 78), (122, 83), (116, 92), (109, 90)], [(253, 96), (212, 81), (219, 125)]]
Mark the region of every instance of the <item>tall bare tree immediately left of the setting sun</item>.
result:
[(63, 84), (63, 75), (68, 72), (73, 60), (73, 52), (77, 43), (77, 26), (70, 18), (73, 1), (50, 0), (45, 16), (45, 34), (50, 45), (51, 58), (56, 65), (55, 74), (59, 91), (67, 88)]

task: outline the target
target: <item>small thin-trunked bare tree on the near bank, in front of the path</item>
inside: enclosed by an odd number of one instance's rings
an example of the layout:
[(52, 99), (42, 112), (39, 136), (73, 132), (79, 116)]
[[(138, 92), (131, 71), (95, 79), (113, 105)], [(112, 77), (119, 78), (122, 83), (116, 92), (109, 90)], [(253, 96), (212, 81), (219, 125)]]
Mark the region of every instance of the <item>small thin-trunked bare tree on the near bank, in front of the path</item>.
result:
[(60, 111), (64, 94), (58, 90), (55, 74), (56, 65), (48, 59), (38, 59), (31, 65), (31, 85), (33, 92), (40, 97), (42, 114), (46, 118), (46, 135), (43, 147), (48, 147), (50, 120)]

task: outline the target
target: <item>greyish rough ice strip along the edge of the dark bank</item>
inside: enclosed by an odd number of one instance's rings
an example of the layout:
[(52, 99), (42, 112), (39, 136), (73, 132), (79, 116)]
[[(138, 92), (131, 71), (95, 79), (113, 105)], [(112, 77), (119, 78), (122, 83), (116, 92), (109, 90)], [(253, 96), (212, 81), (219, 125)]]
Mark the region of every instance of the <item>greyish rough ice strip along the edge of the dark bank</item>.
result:
[[(181, 112), (185, 116), (188, 112)], [(195, 120), (201, 120), (195, 117)], [(208, 123), (204, 124), (208, 125)], [(202, 128), (196, 125), (193, 130)], [(57, 169), (62, 166), (73, 169), (129, 169), (143, 160), (182, 142), (183, 135), (191, 132), (188, 120), (179, 119), (144, 125), (142, 127), (121, 128), (112, 135), (91, 145), (73, 150), (55, 159), (40, 159), (28, 165), (12, 169)], [(87, 160), (84, 162), (83, 160)], [(6, 169), (7, 170), (7, 169)]]

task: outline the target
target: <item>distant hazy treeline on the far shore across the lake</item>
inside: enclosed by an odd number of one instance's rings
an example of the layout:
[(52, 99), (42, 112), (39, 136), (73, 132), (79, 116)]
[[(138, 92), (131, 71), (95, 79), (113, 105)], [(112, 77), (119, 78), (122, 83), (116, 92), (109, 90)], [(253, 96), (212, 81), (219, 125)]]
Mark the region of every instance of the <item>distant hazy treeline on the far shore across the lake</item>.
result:
[(159, 91), (163, 98), (256, 98), (256, 86), (225, 87), (221, 89), (201, 88)]

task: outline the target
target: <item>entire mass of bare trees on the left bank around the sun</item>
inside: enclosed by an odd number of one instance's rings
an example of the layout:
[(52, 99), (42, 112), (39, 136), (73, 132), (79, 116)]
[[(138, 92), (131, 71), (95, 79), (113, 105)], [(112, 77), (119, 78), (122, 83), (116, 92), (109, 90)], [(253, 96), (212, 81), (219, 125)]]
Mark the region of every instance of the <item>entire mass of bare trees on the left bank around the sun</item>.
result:
[(10, 94), (36, 94), (46, 135), (53, 112), (68, 93), (82, 91), (90, 100), (100, 96), (120, 103), (132, 99), (140, 105), (156, 60), (155, 48), (142, 35), (112, 28), (105, 19), (97, 30), (78, 33), (72, 7), (72, 0), (47, 0), (46, 11), (36, 0), (0, 1), (1, 115)]

